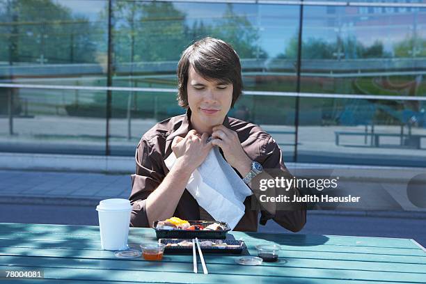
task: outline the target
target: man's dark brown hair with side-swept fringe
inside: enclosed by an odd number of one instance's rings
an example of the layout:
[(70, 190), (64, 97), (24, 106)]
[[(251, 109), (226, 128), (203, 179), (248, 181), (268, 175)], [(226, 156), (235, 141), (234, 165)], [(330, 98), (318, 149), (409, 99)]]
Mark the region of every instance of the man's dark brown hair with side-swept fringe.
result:
[(178, 63), (178, 102), (188, 108), (188, 72), (190, 66), (207, 80), (223, 80), (233, 85), (232, 103), (242, 94), (241, 64), (237, 52), (223, 40), (203, 38), (187, 47)]

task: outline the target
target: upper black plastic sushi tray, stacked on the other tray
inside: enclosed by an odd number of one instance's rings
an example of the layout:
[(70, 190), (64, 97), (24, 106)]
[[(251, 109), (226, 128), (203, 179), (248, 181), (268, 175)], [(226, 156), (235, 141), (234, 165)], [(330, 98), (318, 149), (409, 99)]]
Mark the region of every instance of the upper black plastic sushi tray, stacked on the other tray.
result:
[(225, 230), (164, 230), (157, 229), (157, 223), (155, 221), (152, 227), (155, 229), (157, 239), (226, 239), (226, 233), (230, 231), (228, 223), (218, 221), (188, 221), (191, 225), (200, 225), (203, 228), (211, 225), (212, 223), (218, 223)]

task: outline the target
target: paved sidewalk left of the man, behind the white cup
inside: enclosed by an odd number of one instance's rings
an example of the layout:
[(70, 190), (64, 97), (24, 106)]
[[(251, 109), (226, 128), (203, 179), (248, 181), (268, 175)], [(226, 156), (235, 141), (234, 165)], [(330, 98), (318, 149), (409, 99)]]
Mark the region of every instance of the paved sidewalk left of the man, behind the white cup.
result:
[(129, 198), (130, 175), (0, 171), (0, 203), (96, 205), (106, 198)]

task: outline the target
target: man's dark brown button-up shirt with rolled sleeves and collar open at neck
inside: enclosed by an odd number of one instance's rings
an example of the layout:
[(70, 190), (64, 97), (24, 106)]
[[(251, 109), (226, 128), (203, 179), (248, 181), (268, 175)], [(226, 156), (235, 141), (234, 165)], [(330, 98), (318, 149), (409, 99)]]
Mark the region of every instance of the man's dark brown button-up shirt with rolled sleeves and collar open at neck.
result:
[[(164, 160), (172, 152), (173, 138), (175, 136), (184, 137), (191, 129), (190, 117), (191, 111), (188, 110), (182, 116), (174, 116), (157, 123), (142, 136), (136, 149), (136, 174), (132, 175), (132, 194), (129, 198), (133, 207), (130, 219), (131, 226), (152, 226), (152, 224), (148, 224), (146, 215), (146, 198), (167, 175), (168, 168)], [(283, 164), (281, 149), (271, 135), (267, 134), (262, 128), (236, 118), (228, 118), (228, 116), (223, 121), (223, 125), (237, 132), (244, 151), (253, 161), (258, 161), (263, 168), (281, 169), (285, 175), (291, 176)], [(238, 171), (236, 172), (239, 175)], [(297, 189), (293, 190), (293, 194), (300, 196)], [(261, 212), (260, 223), (262, 225), (265, 225), (268, 219), (274, 219), (276, 223), (287, 230), (297, 232), (306, 223), (306, 205), (302, 205), (297, 210), (276, 210), (271, 213), (262, 210), (262, 207), (259, 206), (258, 209), (255, 209), (253, 203), (259, 204), (254, 194), (246, 197), (246, 200), (244, 200), (245, 214), (234, 230), (257, 231), (259, 211)], [(173, 216), (186, 220), (200, 220), (200, 207), (187, 189), (184, 190)]]

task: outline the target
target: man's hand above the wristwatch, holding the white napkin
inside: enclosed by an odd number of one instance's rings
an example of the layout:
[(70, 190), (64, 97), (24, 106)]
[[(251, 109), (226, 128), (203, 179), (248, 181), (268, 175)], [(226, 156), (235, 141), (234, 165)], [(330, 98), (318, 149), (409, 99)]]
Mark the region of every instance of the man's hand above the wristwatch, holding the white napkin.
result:
[(244, 152), (237, 132), (223, 125), (216, 125), (213, 127), (212, 137), (211, 143), (222, 149), (228, 164), (236, 168), (244, 178), (251, 171), (251, 159)]

